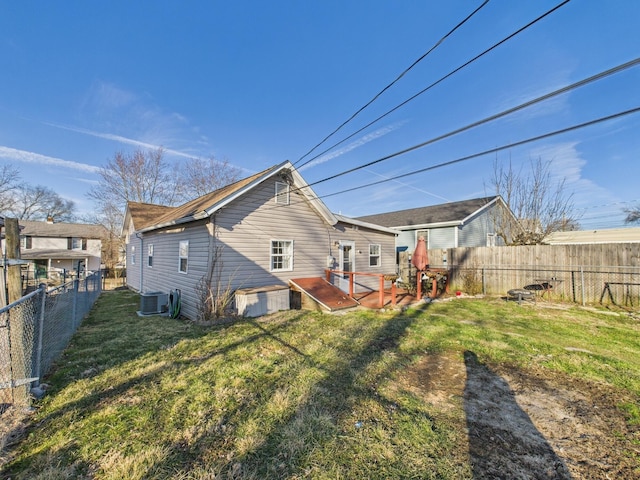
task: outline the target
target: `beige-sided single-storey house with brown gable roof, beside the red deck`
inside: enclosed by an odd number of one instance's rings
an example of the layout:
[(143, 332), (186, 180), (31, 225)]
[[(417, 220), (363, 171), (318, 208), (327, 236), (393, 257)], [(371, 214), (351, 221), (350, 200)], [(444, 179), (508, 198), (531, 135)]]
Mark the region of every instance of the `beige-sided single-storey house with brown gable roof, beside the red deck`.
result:
[[(331, 213), (290, 162), (178, 207), (129, 202), (123, 225), (127, 284), (141, 293), (179, 289), (197, 318), (197, 286), (214, 272), (222, 287), (282, 286), (324, 270), (393, 274), (396, 232)], [(357, 289), (375, 290), (376, 277)], [(343, 289), (348, 282), (336, 275)]]

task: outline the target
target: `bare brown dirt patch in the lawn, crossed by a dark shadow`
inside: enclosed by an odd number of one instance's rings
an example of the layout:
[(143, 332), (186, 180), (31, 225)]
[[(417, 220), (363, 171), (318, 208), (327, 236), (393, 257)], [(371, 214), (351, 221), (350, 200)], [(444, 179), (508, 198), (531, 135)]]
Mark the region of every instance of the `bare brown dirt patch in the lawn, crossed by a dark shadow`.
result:
[[(613, 389), (546, 371), (426, 355), (401, 383), (459, 418), (474, 479), (635, 479), (638, 440)], [(635, 441), (635, 445), (634, 445)]]

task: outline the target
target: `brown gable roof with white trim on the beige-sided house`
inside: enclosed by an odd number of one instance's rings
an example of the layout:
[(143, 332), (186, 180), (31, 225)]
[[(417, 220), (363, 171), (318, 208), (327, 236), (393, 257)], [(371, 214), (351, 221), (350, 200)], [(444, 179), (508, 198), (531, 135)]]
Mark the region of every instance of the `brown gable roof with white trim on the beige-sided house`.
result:
[[(300, 193), (327, 222), (331, 225), (337, 223), (336, 217), (327, 209), (315, 193), (313, 193), (311, 187), (309, 187), (289, 161), (267, 168), (262, 172), (258, 172), (250, 177), (202, 195), (178, 207), (164, 207), (162, 205), (129, 202), (127, 204), (127, 215), (130, 215), (134, 229), (139, 232), (208, 218), (229, 204), (229, 202), (275, 175), (280, 175), (283, 181), (288, 180), (296, 192)], [(156, 212), (155, 215), (152, 212), (153, 210)]]

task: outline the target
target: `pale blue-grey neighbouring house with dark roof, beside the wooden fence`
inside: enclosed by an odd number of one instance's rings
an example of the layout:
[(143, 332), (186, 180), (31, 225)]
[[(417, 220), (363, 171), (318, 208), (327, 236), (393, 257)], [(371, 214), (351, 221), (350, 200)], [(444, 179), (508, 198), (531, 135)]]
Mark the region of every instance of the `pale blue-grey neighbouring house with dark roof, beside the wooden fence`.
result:
[(502, 197), (483, 197), (430, 207), (358, 217), (358, 220), (398, 230), (398, 251), (413, 251), (419, 237), (427, 248), (503, 245), (496, 235), (498, 214), (513, 216)]

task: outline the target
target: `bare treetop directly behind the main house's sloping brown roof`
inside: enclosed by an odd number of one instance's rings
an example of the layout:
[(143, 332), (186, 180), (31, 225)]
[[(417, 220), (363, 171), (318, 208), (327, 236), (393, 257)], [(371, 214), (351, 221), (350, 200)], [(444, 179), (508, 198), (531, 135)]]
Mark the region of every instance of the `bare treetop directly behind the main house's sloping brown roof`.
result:
[(228, 160), (194, 158), (184, 163), (180, 174), (180, 193), (185, 201), (206, 195), (236, 182), (241, 170)]

